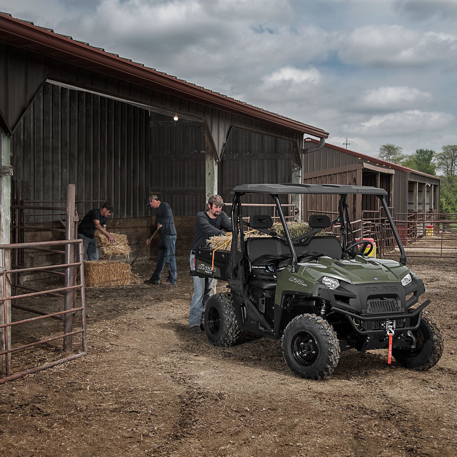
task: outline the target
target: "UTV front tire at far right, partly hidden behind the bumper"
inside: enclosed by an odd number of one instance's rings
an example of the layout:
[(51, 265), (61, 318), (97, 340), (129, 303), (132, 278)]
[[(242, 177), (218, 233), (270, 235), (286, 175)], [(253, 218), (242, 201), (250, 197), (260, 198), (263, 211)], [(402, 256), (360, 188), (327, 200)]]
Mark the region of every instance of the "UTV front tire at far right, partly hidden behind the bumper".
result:
[(444, 337), (438, 322), (427, 311), (417, 330), (413, 330), (416, 347), (411, 349), (392, 348), (392, 355), (402, 367), (425, 371), (435, 366), (444, 349)]

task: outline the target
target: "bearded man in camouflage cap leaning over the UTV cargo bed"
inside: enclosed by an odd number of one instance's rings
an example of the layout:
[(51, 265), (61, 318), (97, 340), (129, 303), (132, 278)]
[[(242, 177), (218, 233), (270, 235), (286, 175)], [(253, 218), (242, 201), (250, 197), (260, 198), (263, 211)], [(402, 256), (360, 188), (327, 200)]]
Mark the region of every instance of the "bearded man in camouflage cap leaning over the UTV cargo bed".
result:
[[(195, 235), (191, 246), (191, 270), (195, 270), (195, 250), (204, 248), (207, 239), (213, 235), (225, 233), (222, 228), (230, 232), (232, 223), (227, 214), (222, 211), (224, 204), (220, 195), (212, 195), (208, 198), (207, 210), (197, 213), (195, 219)], [(213, 278), (199, 278), (193, 276), (194, 294), (192, 295), (191, 309), (189, 311), (189, 326), (192, 332), (202, 333), (205, 306), (213, 290)]]

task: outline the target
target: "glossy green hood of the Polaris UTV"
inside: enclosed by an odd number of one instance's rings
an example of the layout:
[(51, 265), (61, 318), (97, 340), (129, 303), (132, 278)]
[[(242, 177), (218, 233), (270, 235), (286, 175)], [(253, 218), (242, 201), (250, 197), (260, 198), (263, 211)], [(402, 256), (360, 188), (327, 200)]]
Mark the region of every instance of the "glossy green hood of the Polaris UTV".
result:
[(400, 282), (408, 273), (411, 273), (409, 268), (395, 260), (371, 259), (361, 255), (351, 260), (335, 260), (323, 256), (318, 260), (299, 263), (297, 273), (292, 273), (290, 266), (282, 270), (278, 276), (276, 292), (296, 290), (313, 293), (314, 284), (322, 276), (331, 276), (351, 284), (372, 285)]

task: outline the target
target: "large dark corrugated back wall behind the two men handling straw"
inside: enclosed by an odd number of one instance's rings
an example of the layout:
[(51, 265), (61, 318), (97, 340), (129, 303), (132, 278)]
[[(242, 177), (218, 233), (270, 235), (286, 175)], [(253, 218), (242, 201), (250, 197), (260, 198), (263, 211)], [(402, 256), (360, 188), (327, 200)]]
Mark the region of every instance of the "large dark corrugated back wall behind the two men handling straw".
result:
[[(76, 200), (106, 199), (116, 218), (131, 218), (149, 216), (145, 199), (152, 189), (176, 215), (195, 214), (200, 206), (193, 200), (200, 198), (194, 196), (205, 193), (203, 124), (152, 118), (173, 128), (151, 126), (149, 111), (137, 106), (45, 84), (12, 136), (23, 198), (62, 200), (75, 183)], [(79, 203), (78, 212), (96, 206)]]

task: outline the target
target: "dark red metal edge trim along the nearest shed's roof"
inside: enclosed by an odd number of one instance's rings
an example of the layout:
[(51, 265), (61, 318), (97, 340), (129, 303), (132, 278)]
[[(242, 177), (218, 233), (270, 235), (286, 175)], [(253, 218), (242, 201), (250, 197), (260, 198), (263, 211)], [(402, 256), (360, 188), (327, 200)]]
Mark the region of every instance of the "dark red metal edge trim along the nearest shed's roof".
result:
[[(263, 122), (298, 130), (299, 132), (319, 138), (328, 138), (329, 136), (329, 133), (322, 129), (263, 110), (243, 101), (235, 100), (234, 98), (205, 89), (202, 86), (188, 83), (175, 76), (119, 57), (117, 54), (108, 53), (103, 48), (96, 48), (74, 40), (72, 37), (55, 33), (52, 29), (46, 29), (36, 26), (32, 22), (13, 18), (9, 13), (0, 12), (0, 28), (5, 32), (30, 40), (45, 48), (58, 50), (67, 55), (77, 56), (90, 64), (97, 64), (105, 69), (114, 69), (128, 76), (139, 78), (140, 80), (154, 82), (154, 84), (162, 88), (173, 90), (175, 94), (181, 94), (183, 98), (191, 97), (192, 100), (200, 101), (203, 104), (223, 108), (225, 111), (234, 112), (235, 114), (254, 117)], [(97, 71), (102, 70), (97, 69)]]

